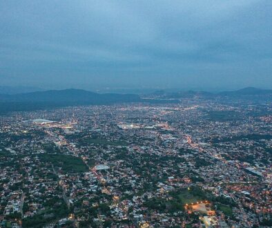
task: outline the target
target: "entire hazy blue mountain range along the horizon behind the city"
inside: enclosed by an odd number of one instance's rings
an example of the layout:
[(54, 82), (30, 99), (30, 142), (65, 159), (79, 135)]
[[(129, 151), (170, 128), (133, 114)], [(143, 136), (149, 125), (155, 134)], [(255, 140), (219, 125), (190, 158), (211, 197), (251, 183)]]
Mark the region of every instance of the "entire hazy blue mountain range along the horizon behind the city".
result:
[(32, 111), (46, 108), (56, 108), (77, 105), (99, 105), (117, 104), (128, 102), (148, 103), (177, 103), (178, 99), (186, 98), (215, 98), (215, 97), (259, 97), (272, 98), (272, 90), (260, 88), (243, 88), (238, 91), (227, 91), (221, 93), (209, 93), (205, 91), (180, 91), (165, 92), (155, 91), (154, 93), (139, 96), (136, 94), (117, 93), (93, 93), (81, 89), (65, 89), (60, 91), (37, 91), (32, 93), (0, 94), (0, 114), (10, 111)]

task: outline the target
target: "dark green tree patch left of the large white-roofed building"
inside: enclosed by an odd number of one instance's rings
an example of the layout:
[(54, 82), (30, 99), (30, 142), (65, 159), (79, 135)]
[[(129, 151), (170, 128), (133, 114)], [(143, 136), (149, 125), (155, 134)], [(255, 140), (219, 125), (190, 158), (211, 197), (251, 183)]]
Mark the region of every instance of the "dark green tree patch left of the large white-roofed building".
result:
[(61, 167), (64, 173), (82, 173), (88, 171), (86, 164), (80, 158), (72, 155), (43, 153), (39, 157), (43, 162), (50, 162), (54, 167)]

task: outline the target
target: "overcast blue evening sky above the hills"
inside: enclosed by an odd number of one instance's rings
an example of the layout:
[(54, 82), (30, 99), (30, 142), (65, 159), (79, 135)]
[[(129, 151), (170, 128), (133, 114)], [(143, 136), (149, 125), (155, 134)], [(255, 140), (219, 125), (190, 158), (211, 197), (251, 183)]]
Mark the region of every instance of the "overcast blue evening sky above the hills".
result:
[(271, 12), (271, 0), (0, 0), (0, 86), (272, 88)]

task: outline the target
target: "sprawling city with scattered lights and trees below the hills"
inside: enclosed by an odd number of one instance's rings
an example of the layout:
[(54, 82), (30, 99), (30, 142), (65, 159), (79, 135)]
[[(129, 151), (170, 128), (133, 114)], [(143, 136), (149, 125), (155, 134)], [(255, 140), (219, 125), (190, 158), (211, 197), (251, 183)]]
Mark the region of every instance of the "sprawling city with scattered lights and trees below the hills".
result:
[(1, 227), (271, 227), (271, 102), (0, 117)]

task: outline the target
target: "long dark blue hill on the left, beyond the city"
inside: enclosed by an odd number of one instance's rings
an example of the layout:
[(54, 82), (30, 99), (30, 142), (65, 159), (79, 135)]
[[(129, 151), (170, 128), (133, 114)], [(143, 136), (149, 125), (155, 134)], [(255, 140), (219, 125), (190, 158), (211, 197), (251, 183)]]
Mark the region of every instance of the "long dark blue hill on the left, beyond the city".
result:
[(61, 106), (88, 104), (114, 104), (123, 102), (140, 102), (139, 95), (133, 94), (99, 94), (79, 89), (61, 91), (41, 91), (15, 95), (0, 94), (0, 113), (10, 111), (32, 111)]

